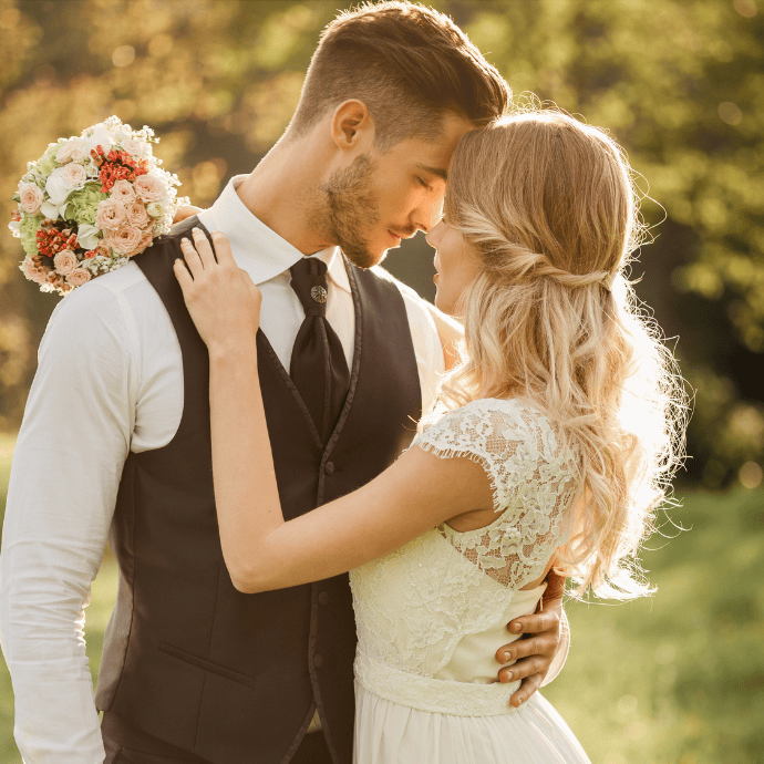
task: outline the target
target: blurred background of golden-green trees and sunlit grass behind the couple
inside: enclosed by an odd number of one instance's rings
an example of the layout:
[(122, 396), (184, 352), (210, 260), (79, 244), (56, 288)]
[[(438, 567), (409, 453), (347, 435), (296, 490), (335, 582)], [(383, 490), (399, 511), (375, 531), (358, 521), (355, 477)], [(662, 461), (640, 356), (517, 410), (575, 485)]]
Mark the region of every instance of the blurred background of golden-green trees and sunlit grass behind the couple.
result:
[[(762, 761), (762, 494), (734, 486), (755, 488), (764, 461), (764, 2), (432, 4), (515, 93), (554, 101), (627, 148), (651, 197), (646, 219), (660, 223), (634, 267), (638, 293), (678, 338), (695, 391), (686, 479), (727, 489), (692, 489), (672, 513), (693, 529), (647, 555), (653, 600), (571, 608), (571, 658), (547, 694), (596, 763)], [(10, 219), (28, 159), (112, 113), (154, 127), (182, 193), (208, 205), (279, 137), (321, 28), (349, 6), (0, 0), (0, 215)], [(10, 433), (58, 300), (24, 281), (20, 259), (18, 240), (0, 236), (0, 432)], [(432, 297), (422, 237), (388, 266)], [(0, 438), (0, 499), (12, 442)], [(114, 577), (107, 557), (89, 609), (93, 668)], [(11, 719), (3, 670), (3, 763), (18, 761)]]

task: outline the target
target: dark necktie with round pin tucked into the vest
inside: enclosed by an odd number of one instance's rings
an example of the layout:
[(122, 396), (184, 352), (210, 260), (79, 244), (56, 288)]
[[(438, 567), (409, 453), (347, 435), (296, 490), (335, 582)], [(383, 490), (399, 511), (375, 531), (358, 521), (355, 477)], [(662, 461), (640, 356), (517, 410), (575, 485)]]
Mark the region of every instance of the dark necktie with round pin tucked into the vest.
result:
[(326, 443), (348, 394), (350, 372), (340, 338), (327, 321), (327, 264), (303, 257), (289, 271), (291, 287), (306, 311), (289, 375)]

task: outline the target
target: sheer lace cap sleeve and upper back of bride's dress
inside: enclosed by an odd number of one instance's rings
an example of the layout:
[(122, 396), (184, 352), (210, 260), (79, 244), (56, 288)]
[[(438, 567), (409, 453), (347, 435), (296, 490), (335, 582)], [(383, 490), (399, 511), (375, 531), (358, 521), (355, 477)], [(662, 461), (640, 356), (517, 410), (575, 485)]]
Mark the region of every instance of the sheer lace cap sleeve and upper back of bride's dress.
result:
[(577, 485), (574, 456), (548, 417), (517, 400), (472, 401), (441, 416), (413, 445), (441, 458), (471, 458), (491, 479), (499, 517), (463, 533), (443, 524), (443, 536), (504, 586), (538, 578), (564, 541)]

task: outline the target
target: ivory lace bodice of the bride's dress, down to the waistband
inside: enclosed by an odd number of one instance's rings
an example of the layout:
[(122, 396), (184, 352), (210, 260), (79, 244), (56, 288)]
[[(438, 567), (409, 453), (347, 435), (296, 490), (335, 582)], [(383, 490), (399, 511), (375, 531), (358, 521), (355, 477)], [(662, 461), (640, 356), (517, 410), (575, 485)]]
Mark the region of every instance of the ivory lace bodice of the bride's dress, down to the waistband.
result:
[(518, 608), (534, 611), (543, 588), (519, 589), (544, 572), (569, 533), (575, 458), (548, 417), (518, 400), (484, 399), (450, 411), (411, 447), (481, 464), (496, 519), (465, 533), (444, 523), (351, 571), (357, 677), (368, 690), (415, 708), (504, 713), (506, 699), (492, 698), (508, 698), (512, 685), (485, 686), (498, 670), (493, 653), (512, 640), (505, 626), (522, 615)]

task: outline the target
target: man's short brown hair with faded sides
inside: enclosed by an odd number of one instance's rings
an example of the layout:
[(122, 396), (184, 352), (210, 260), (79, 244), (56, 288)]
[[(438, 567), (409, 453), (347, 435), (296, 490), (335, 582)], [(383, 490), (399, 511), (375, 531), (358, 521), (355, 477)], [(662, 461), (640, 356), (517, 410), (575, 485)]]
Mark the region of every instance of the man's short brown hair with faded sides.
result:
[(447, 112), (488, 124), (509, 97), (502, 75), (447, 16), (399, 0), (366, 2), (323, 30), (288, 134), (300, 137), (357, 99), (384, 152), (404, 138), (438, 137)]

